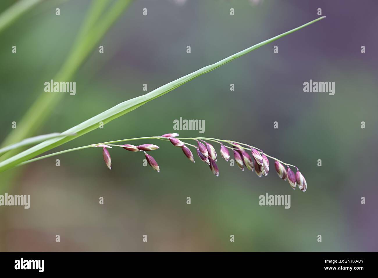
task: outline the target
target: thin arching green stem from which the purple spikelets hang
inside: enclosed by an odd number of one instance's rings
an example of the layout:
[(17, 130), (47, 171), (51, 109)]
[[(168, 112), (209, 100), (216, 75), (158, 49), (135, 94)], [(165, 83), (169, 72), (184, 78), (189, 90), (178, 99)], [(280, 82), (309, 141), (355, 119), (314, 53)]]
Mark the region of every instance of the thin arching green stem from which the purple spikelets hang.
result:
[[(217, 142), (219, 144), (222, 144), (220, 142), (226, 142), (226, 143), (229, 143), (232, 145), (231, 142), (234, 142), (236, 144), (240, 144), (240, 145), (246, 145), (248, 146), (248, 148), (246, 147), (242, 147), (246, 150), (252, 150), (251, 148), (249, 147), (252, 147), (248, 144), (244, 144), (244, 143), (239, 143), (239, 142), (235, 142), (235, 141), (232, 141), (232, 140), (222, 140), (222, 139), (216, 139), (216, 138), (208, 138), (208, 137), (175, 137), (176, 139), (179, 139), (179, 140), (194, 140), (194, 141), (197, 141), (197, 140), (207, 140), (207, 141), (212, 141), (212, 142)], [(162, 136), (150, 136), (150, 137), (137, 137), (137, 138), (129, 138), (129, 139), (122, 139), (122, 140), (116, 140), (116, 141), (108, 141), (108, 142), (102, 142), (102, 143), (97, 143), (97, 144), (91, 144), (91, 145), (86, 145), (86, 146), (82, 146), (82, 147), (77, 147), (77, 148), (72, 148), (72, 149), (68, 149), (68, 150), (64, 150), (64, 151), (58, 151), (56, 153), (51, 153), (51, 154), (46, 154), (44, 156), (40, 156), (38, 158), (34, 158), (34, 159), (30, 159), (28, 161), (24, 161), (20, 164), (18, 164), (17, 166), (20, 166), (20, 165), (25, 165), (25, 164), (28, 164), (30, 162), (34, 162), (34, 161), (38, 161), (38, 160), (41, 160), (41, 159), (44, 159), (44, 158), (50, 158), (51, 156), (56, 156), (58, 154), (63, 154), (63, 153), (69, 153), (71, 151), (77, 151), (77, 150), (82, 150), (82, 149), (86, 149), (86, 148), (96, 148), (98, 147), (98, 145), (108, 145), (108, 146), (114, 146), (114, 147), (121, 147), (122, 148), (122, 145), (115, 145), (113, 143), (119, 143), (119, 142), (127, 142), (127, 141), (136, 141), (136, 140), (144, 140), (144, 139), (159, 139), (159, 140), (164, 140), (164, 141), (169, 141), (169, 139), (167, 137), (162, 137)], [(185, 143), (185, 145), (189, 145), (191, 147), (194, 147), (194, 148), (197, 148), (197, 146), (195, 145), (192, 145), (192, 144), (189, 144), (189, 143)], [(234, 148), (231, 148), (231, 147), (228, 147), (228, 146), (225, 146), (226, 148), (229, 148), (231, 150), (233, 150)], [(252, 148), (255, 148), (255, 147), (252, 147)], [(256, 148), (257, 149), (257, 148)], [(263, 153), (262, 151), (260, 151), (260, 153)], [(283, 161), (280, 161), (279, 159), (277, 158), (274, 158), (273, 156), (270, 156), (266, 153), (264, 153), (267, 157), (271, 158), (271, 159), (274, 159), (274, 160), (277, 160), (279, 162), (281, 162), (282, 164), (285, 164), (285, 165), (288, 165), (288, 166), (292, 166), (292, 167), (295, 167), (297, 168), (295, 165), (293, 164), (288, 164), (288, 163), (285, 163)]]

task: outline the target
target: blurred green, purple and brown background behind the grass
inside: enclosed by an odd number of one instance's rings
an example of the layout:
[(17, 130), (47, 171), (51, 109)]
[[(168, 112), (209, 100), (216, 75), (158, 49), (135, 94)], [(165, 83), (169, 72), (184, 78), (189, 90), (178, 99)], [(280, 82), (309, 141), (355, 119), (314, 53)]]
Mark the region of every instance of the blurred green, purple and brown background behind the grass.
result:
[[(1, 1), (1, 10), (14, 2)], [(43, 83), (64, 63), (90, 5), (89, 0), (42, 2), (0, 34), (0, 139), (45, 94)], [(160, 173), (143, 167), (143, 154), (115, 148), (110, 171), (101, 149), (89, 148), (0, 174), (1, 194), (31, 195), (29, 209), (0, 207), (0, 250), (377, 251), (378, 5), (373, 0), (134, 1), (99, 42), (104, 54), (96, 46), (76, 75), (64, 80), (76, 82), (76, 95), (66, 93), (30, 135), (67, 130), (146, 93), (144, 83), (151, 91), (316, 19), (318, 8), (327, 15), (321, 22), (54, 150), (158, 136), (174, 132), (173, 121), (180, 117), (204, 119), (205, 133), (178, 133), (259, 147), (297, 165), (307, 192), (280, 180), (273, 161), (271, 173), (258, 178), (219, 159), (215, 177), (196, 155), (193, 164), (168, 142), (150, 140), (135, 144), (160, 145), (152, 153)], [(11, 53), (13, 45), (17, 54)], [(310, 79), (335, 82), (335, 95), (304, 93), (303, 82)], [(260, 206), (259, 195), (266, 192), (291, 195), (291, 208)]]

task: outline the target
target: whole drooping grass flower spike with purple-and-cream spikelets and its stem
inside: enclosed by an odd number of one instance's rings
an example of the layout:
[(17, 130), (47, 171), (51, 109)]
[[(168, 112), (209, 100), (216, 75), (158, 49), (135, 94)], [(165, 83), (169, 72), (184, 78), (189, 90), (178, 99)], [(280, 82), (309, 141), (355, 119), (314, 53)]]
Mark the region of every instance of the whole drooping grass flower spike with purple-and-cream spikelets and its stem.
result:
[[(222, 158), (225, 159), (226, 161), (228, 161), (230, 158), (228, 149), (232, 150), (234, 154), (235, 162), (241, 170), (244, 171), (244, 166), (245, 166), (249, 171), (255, 171), (256, 175), (259, 177), (267, 176), (269, 173), (269, 159), (268, 158), (271, 158), (271, 159), (274, 159), (274, 168), (276, 169), (278, 176), (285, 181), (288, 180), (291, 188), (296, 189), (296, 186), (298, 185), (298, 188), (302, 190), (303, 192), (307, 190), (306, 179), (304, 178), (302, 173), (299, 171), (298, 167), (292, 164), (282, 162), (279, 159), (274, 158), (273, 156), (270, 156), (264, 153), (259, 148), (253, 147), (248, 144), (240, 143), (240, 142), (235, 142), (232, 140), (222, 140), (222, 139), (208, 138), (208, 137), (177, 137), (177, 136), (178, 136), (177, 133), (168, 133), (162, 136), (138, 137), (138, 138), (117, 140), (117, 141), (102, 142), (98, 144), (92, 144), (92, 145), (73, 148), (69, 150), (59, 151), (57, 153), (47, 154), (45, 156), (40, 156), (39, 158), (34, 158), (28, 161), (22, 162), (18, 164), (17, 166), (24, 165), (33, 161), (43, 159), (43, 158), (55, 156), (58, 154), (68, 153), (70, 151), (81, 150), (84, 148), (102, 147), (104, 161), (107, 167), (109, 169), (112, 169), (112, 161), (110, 159), (110, 153), (108, 151), (108, 148), (112, 148), (113, 146), (113, 147), (121, 147), (131, 152), (143, 151), (149, 165), (153, 169), (159, 172), (160, 168), (156, 160), (152, 156), (146, 153), (146, 151), (157, 150), (159, 146), (153, 145), (153, 144), (143, 144), (143, 145), (138, 145), (138, 146), (130, 145), (130, 144), (125, 144), (125, 145), (113, 144), (113, 143), (119, 143), (119, 142), (125, 142), (125, 141), (136, 141), (136, 140), (142, 140), (142, 139), (159, 139), (163, 141), (170, 141), (175, 147), (181, 148), (185, 156), (192, 162), (194, 162), (194, 157), (189, 147), (195, 148), (197, 155), (201, 159), (201, 161), (209, 165), (211, 171), (214, 173), (215, 176), (219, 176), (219, 168), (218, 168), (218, 165), (215, 163), (217, 161), (217, 152), (215, 151), (214, 146), (209, 143), (209, 142), (215, 142), (215, 143), (220, 144), (220, 154)], [(196, 141), (197, 146), (189, 144), (187, 142), (183, 142), (182, 140)], [(200, 141), (202, 141), (204, 144)], [(226, 143), (229, 146), (223, 143)], [(283, 165), (286, 165), (287, 169), (285, 169)], [(291, 170), (290, 166), (296, 168), (297, 172), (294, 173), (294, 171)]]

